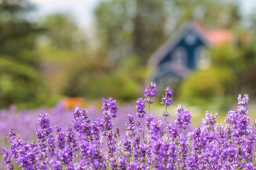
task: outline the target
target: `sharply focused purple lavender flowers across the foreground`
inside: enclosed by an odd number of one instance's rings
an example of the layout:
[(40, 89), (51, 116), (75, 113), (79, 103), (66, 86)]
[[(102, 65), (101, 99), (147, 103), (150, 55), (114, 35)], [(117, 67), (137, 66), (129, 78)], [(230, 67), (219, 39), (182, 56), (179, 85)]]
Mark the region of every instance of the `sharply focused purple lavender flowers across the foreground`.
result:
[(10, 150), (3, 148), (2, 162), (7, 169), (14, 169), (17, 164), (22, 169), (53, 170), (256, 169), (256, 132), (249, 126), (247, 94), (243, 98), (238, 96), (239, 106), (236, 111), (229, 111), (226, 125), (216, 123), (217, 114), (214, 117), (207, 112), (203, 126), (185, 132), (191, 123), (191, 113), (182, 105), (177, 107), (174, 125), (166, 125), (167, 106), (173, 103), (169, 87), (162, 98), (166, 106), (164, 122), (156, 121), (148, 109), (143, 123), (145, 102), (149, 106), (155, 102), (151, 97), (156, 97), (156, 92), (152, 82), (146, 86), (146, 99), (139, 98), (135, 106), (138, 120), (127, 113), (126, 135), (122, 140), (119, 127), (114, 125), (114, 119), (122, 117), (117, 114), (117, 102), (103, 98), (100, 118), (89, 119), (88, 110), (76, 107), (70, 121), (72, 127), (67, 127), (67, 131), (60, 126), (53, 128), (51, 117), (39, 114), (37, 142), (24, 142), (11, 128), (7, 137)]

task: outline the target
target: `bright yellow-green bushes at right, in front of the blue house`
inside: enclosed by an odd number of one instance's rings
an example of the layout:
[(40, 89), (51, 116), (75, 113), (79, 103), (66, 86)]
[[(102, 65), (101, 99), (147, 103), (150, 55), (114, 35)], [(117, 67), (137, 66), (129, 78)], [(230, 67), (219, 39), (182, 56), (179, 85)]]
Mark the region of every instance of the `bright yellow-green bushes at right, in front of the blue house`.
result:
[(225, 44), (210, 49), (211, 66), (205, 71), (192, 72), (181, 83), (179, 89), (181, 100), (186, 99), (192, 105), (199, 105), (205, 101), (213, 101), (217, 97), (233, 98), (242, 92), (255, 94), (255, 88), (249, 90), (248, 85), (254, 83), (250, 81), (255, 75), (249, 73), (255, 71), (252, 68), (256, 65), (256, 53), (253, 43), (244, 40), (247, 39), (245, 32), (240, 32), (239, 35), (236, 47)]

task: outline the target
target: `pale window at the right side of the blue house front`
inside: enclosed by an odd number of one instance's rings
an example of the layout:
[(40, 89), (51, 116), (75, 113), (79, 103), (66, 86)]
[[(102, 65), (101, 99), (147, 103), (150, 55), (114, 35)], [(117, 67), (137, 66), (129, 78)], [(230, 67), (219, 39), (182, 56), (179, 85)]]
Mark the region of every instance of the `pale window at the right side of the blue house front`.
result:
[(195, 49), (195, 64), (196, 68), (205, 70), (210, 66), (210, 54), (203, 46), (196, 47)]

